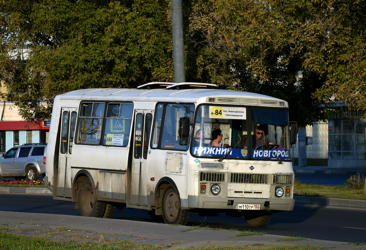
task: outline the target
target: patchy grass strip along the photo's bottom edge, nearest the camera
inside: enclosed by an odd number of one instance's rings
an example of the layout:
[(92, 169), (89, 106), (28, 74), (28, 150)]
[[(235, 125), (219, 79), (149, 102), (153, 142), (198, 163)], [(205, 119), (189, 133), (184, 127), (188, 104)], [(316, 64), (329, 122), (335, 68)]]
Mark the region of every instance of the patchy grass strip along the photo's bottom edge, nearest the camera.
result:
[[(180, 244), (180, 242), (177, 242)], [(183, 243), (183, 242), (182, 242)], [(258, 248), (253, 248), (253, 246), (258, 246)], [(102, 243), (78, 243), (75, 241), (68, 241), (64, 243), (59, 243), (47, 239), (38, 239), (36, 237), (26, 237), (18, 236), (8, 233), (0, 234), (0, 248), (4, 250), (130, 250), (130, 249), (146, 249), (146, 250), (161, 250), (167, 249), (167, 245), (152, 245), (149, 243), (137, 243), (134, 240), (112, 240), (110, 242)], [(332, 246), (330, 246), (332, 247)], [(329, 247), (329, 248), (330, 248)], [(192, 249), (186, 248), (185, 250)], [(197, 248), (198, 250), (207, 249), (206, 247)], [(222, 247), (222, 246), (210, 246), (210, 250), (237, 250), (238, 247)], [(240, 247), (240, 250), (322, 250), (324, 247), (314, 247), (314, 246), (288, 246), (288, 245), (263, 245), (263, 244), (252, 244), (251, 246)], [(328, 248), (327, 248), (328, 249)], [(182, 249), (183, 250), (183, 249)]]

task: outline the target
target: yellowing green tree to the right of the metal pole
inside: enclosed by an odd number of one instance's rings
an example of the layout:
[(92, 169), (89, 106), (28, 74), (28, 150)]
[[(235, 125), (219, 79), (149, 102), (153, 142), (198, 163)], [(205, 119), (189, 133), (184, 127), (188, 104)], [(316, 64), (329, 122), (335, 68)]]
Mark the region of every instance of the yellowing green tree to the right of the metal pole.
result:
[[(193, 42), (212, 52), (223, 88), (289, 102), (300, 127), (324, 120), (331, 97), (366, 110), (364, 1), (197, 0)], [(302, 78), (296, 77), (302, 73)]]

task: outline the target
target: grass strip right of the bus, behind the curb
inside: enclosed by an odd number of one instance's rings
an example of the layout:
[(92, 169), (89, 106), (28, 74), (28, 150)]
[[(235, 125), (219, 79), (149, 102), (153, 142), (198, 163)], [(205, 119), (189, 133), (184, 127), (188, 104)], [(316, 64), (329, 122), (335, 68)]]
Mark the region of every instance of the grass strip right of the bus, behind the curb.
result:
[(294, 187), (294, 195), (366, 200), (366, 194), (363, 193), (363, 189), (347, 190), (346, 186), (331, 187), (314, 184), (301, 184), (296, 182)]

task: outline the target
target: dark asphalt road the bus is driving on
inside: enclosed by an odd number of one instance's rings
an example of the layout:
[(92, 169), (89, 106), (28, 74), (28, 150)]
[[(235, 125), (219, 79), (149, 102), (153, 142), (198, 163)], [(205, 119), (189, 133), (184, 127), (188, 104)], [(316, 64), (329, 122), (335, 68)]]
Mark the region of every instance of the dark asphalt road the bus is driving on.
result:
[[(53, 200), (51, 195), (0, 193), (0, 200), (0, 211), (80, 216), (74, 203)], [(161, 223), (152, 220), (146, 211), (139, 209), (125, 208), (123, 212), (117, 211), (113, 218)], [(239, 231), (265, 231), (272, 235), (366, 242), (366, 209), (296, 204), (293, 211), (273, 214), (270, 223), (261, 228), (250, 227), (244, 218), (226, 217), (224, 213), (218, 217), (200, 217), (197, 213), (191, 213), (188, 225), (198, 224)]]

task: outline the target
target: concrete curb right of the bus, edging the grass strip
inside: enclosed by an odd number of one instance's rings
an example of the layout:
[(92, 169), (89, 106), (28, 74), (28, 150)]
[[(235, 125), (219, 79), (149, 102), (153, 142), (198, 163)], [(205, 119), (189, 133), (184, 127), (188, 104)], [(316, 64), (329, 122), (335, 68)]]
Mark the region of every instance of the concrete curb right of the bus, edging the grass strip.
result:
[(353, 207), (353, 208), (366, 208), (366, 201), (364, 201), (364, 200), (309, 197), (309, 196), (296, 196), (296, 195), (294, 195), (294, 199), (295, 199), (295, 202), (297, 202), (297, 203), (307, 203), (307, 204), (313, 204), (313, 205), (326, 205), (326, 206)]

